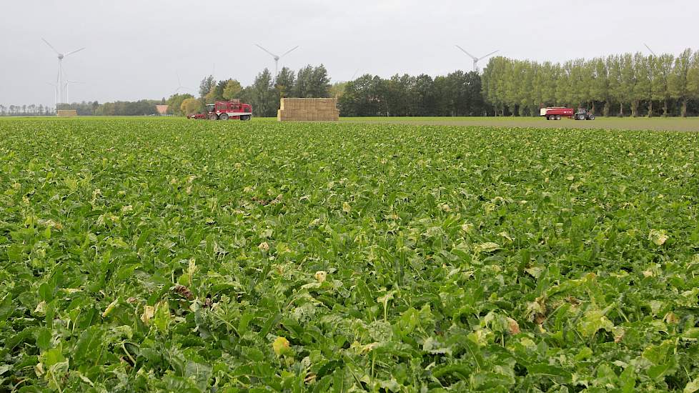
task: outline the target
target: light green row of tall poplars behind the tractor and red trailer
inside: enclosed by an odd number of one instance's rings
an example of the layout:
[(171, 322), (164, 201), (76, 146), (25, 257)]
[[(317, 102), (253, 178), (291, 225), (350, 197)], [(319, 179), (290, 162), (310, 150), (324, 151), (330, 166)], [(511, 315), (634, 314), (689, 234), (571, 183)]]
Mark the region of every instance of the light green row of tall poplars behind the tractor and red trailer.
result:
[(620, 54), (565, 63), (490, 59), (482, 91), (500, 116), (537, 116), (543, 106), (585, 107), (603, 116), (699, 114), (699, 52)]

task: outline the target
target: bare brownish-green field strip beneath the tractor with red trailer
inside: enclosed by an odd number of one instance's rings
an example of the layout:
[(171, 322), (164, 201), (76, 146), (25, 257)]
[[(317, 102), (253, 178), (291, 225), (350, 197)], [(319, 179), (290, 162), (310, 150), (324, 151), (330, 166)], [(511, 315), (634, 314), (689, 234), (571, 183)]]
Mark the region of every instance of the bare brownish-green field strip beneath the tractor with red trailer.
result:
[(562, 119), (547, 121), (540, 117), (344, 117), (340, 121), (431, 126), (502, 126), (565, 129), (633, 129), (656, 131), (699, 131), (699, 117), (598, 117), (593, 121)]

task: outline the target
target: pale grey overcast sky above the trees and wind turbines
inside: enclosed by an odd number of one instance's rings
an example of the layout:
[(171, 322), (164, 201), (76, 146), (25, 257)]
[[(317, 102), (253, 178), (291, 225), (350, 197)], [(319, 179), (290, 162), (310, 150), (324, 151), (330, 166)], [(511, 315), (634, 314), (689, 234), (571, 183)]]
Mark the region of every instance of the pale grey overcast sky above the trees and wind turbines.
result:
[[(324, 64), (333, 81), (370, 73), (447, 74), (495, 49), (516, 59), (565, 61), (624, 51), (699, 48), (695, 0), (0, 0), (0, 104), (53, 104), (66, 57), (70, 101), (196, 92), (203, 76), (252, 82), (272, 52), (279, 67)], [(487, 60), (482, 61), (485, 66)], [(195, 94), (196, 95), (196, 94)]]

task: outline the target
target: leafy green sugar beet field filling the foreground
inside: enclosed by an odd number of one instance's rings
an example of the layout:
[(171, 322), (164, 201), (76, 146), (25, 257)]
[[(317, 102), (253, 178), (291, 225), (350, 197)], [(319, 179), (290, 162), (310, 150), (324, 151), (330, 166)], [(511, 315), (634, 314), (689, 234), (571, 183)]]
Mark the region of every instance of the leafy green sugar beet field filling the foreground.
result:
[(699, 134), (0, 121), (0, 391), (699, 391)]

